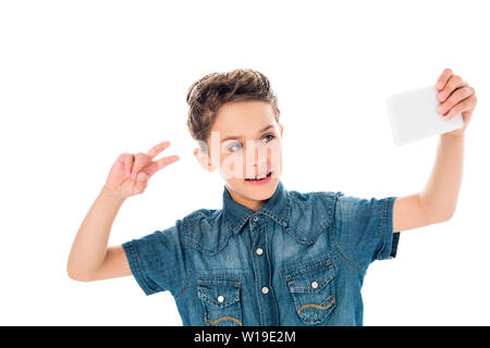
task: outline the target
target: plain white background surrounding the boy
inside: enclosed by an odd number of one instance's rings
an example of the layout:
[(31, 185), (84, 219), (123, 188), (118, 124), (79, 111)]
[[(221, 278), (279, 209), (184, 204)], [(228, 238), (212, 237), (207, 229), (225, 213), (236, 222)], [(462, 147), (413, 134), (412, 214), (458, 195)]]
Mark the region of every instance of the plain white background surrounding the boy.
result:
[[(438, 136), (396, 147), (385, 97), (444, 67), (475, 87), (457, 211), (402, 232), (363, 288), (365, 325), (488, 325), (490, 293), (487, 1), (2, 1), (0, 324), (181, 325), (169, 293), (133, 276), (66, 274), (76, 232), (122, 152), (170, 140), (181, 160), (121, 208), (109, 245), (221, 208), (200, 169), (187, 88), (252, 67), (279, 97), (287, 189), (414, 194)], [(160, 158), (160, 157), (159, 157)]]

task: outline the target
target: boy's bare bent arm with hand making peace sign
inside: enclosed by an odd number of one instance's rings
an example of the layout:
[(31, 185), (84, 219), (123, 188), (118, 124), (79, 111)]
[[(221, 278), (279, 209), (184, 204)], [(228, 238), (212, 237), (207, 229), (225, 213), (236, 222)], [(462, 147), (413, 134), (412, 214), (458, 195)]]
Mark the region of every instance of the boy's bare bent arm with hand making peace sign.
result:
[(132, 274), (123, 247), (107, 247), (112, 223), (126, 198), (144, 192), (156, 172), (179, 160), (179, 156), (170, 156), (152, 161), (169, 146), (170, 141), (163, 141), (147, 153), (122, 153), (114, 162), (73, 241), (66, 268), (72, 279), (88, 282)]

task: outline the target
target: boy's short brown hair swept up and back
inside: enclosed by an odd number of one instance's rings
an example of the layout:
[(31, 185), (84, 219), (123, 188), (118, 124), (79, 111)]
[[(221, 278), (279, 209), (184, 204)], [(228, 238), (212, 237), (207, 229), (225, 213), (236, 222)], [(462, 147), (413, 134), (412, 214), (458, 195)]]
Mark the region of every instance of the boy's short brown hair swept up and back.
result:
[(206, 150), (203, 146), (209, 137), (218, 110), (228, 102), (245, 100), (269, 102), (279, 123), (278, 97), (270, 87), (267, 76), (258, 71), (236, 69), (231, 72), (211, 73), (188, 88), (187, 127), (203, 150)]

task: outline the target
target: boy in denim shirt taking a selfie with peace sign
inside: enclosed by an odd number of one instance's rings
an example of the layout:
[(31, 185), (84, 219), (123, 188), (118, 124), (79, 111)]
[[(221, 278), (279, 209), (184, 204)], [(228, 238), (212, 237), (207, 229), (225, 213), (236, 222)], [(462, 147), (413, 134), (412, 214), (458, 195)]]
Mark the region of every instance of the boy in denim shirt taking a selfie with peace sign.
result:
[(179, 160), (152, 161), (169, 141), (147, 153), (123, 153), (75, 237), (70, 277), (133, 274), (146, 295), (170, 290), (184, 325), (363, 325), (368, 265), (395, 257), (401, 231), (448, 221), (455, 210), (476, 97), (449, 69), (437, 88), (440, 113), (463, 112), (465, 124), (441, 135), (427, 186), (405, 197), (363, 199), (286, 189), (280, 181), (283, 127), (264, 74), (203, 77), (187, 94), (187, 125), (199, 144), (199, 164), (225, 181), (223, 208), (196, 210), (164, 231), (108, 248), (124, 200)]

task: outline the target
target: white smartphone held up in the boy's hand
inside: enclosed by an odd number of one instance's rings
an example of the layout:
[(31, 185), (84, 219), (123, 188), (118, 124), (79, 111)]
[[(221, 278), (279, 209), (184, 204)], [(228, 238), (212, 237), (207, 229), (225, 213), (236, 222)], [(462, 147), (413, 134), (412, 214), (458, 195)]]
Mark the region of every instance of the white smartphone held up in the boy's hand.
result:
[(387, 97), (395, 145), (402, 146), (463, 127), (461, 112), (450, 121), (444, 121), (438, 113), (438, 92), (433, 85)]

